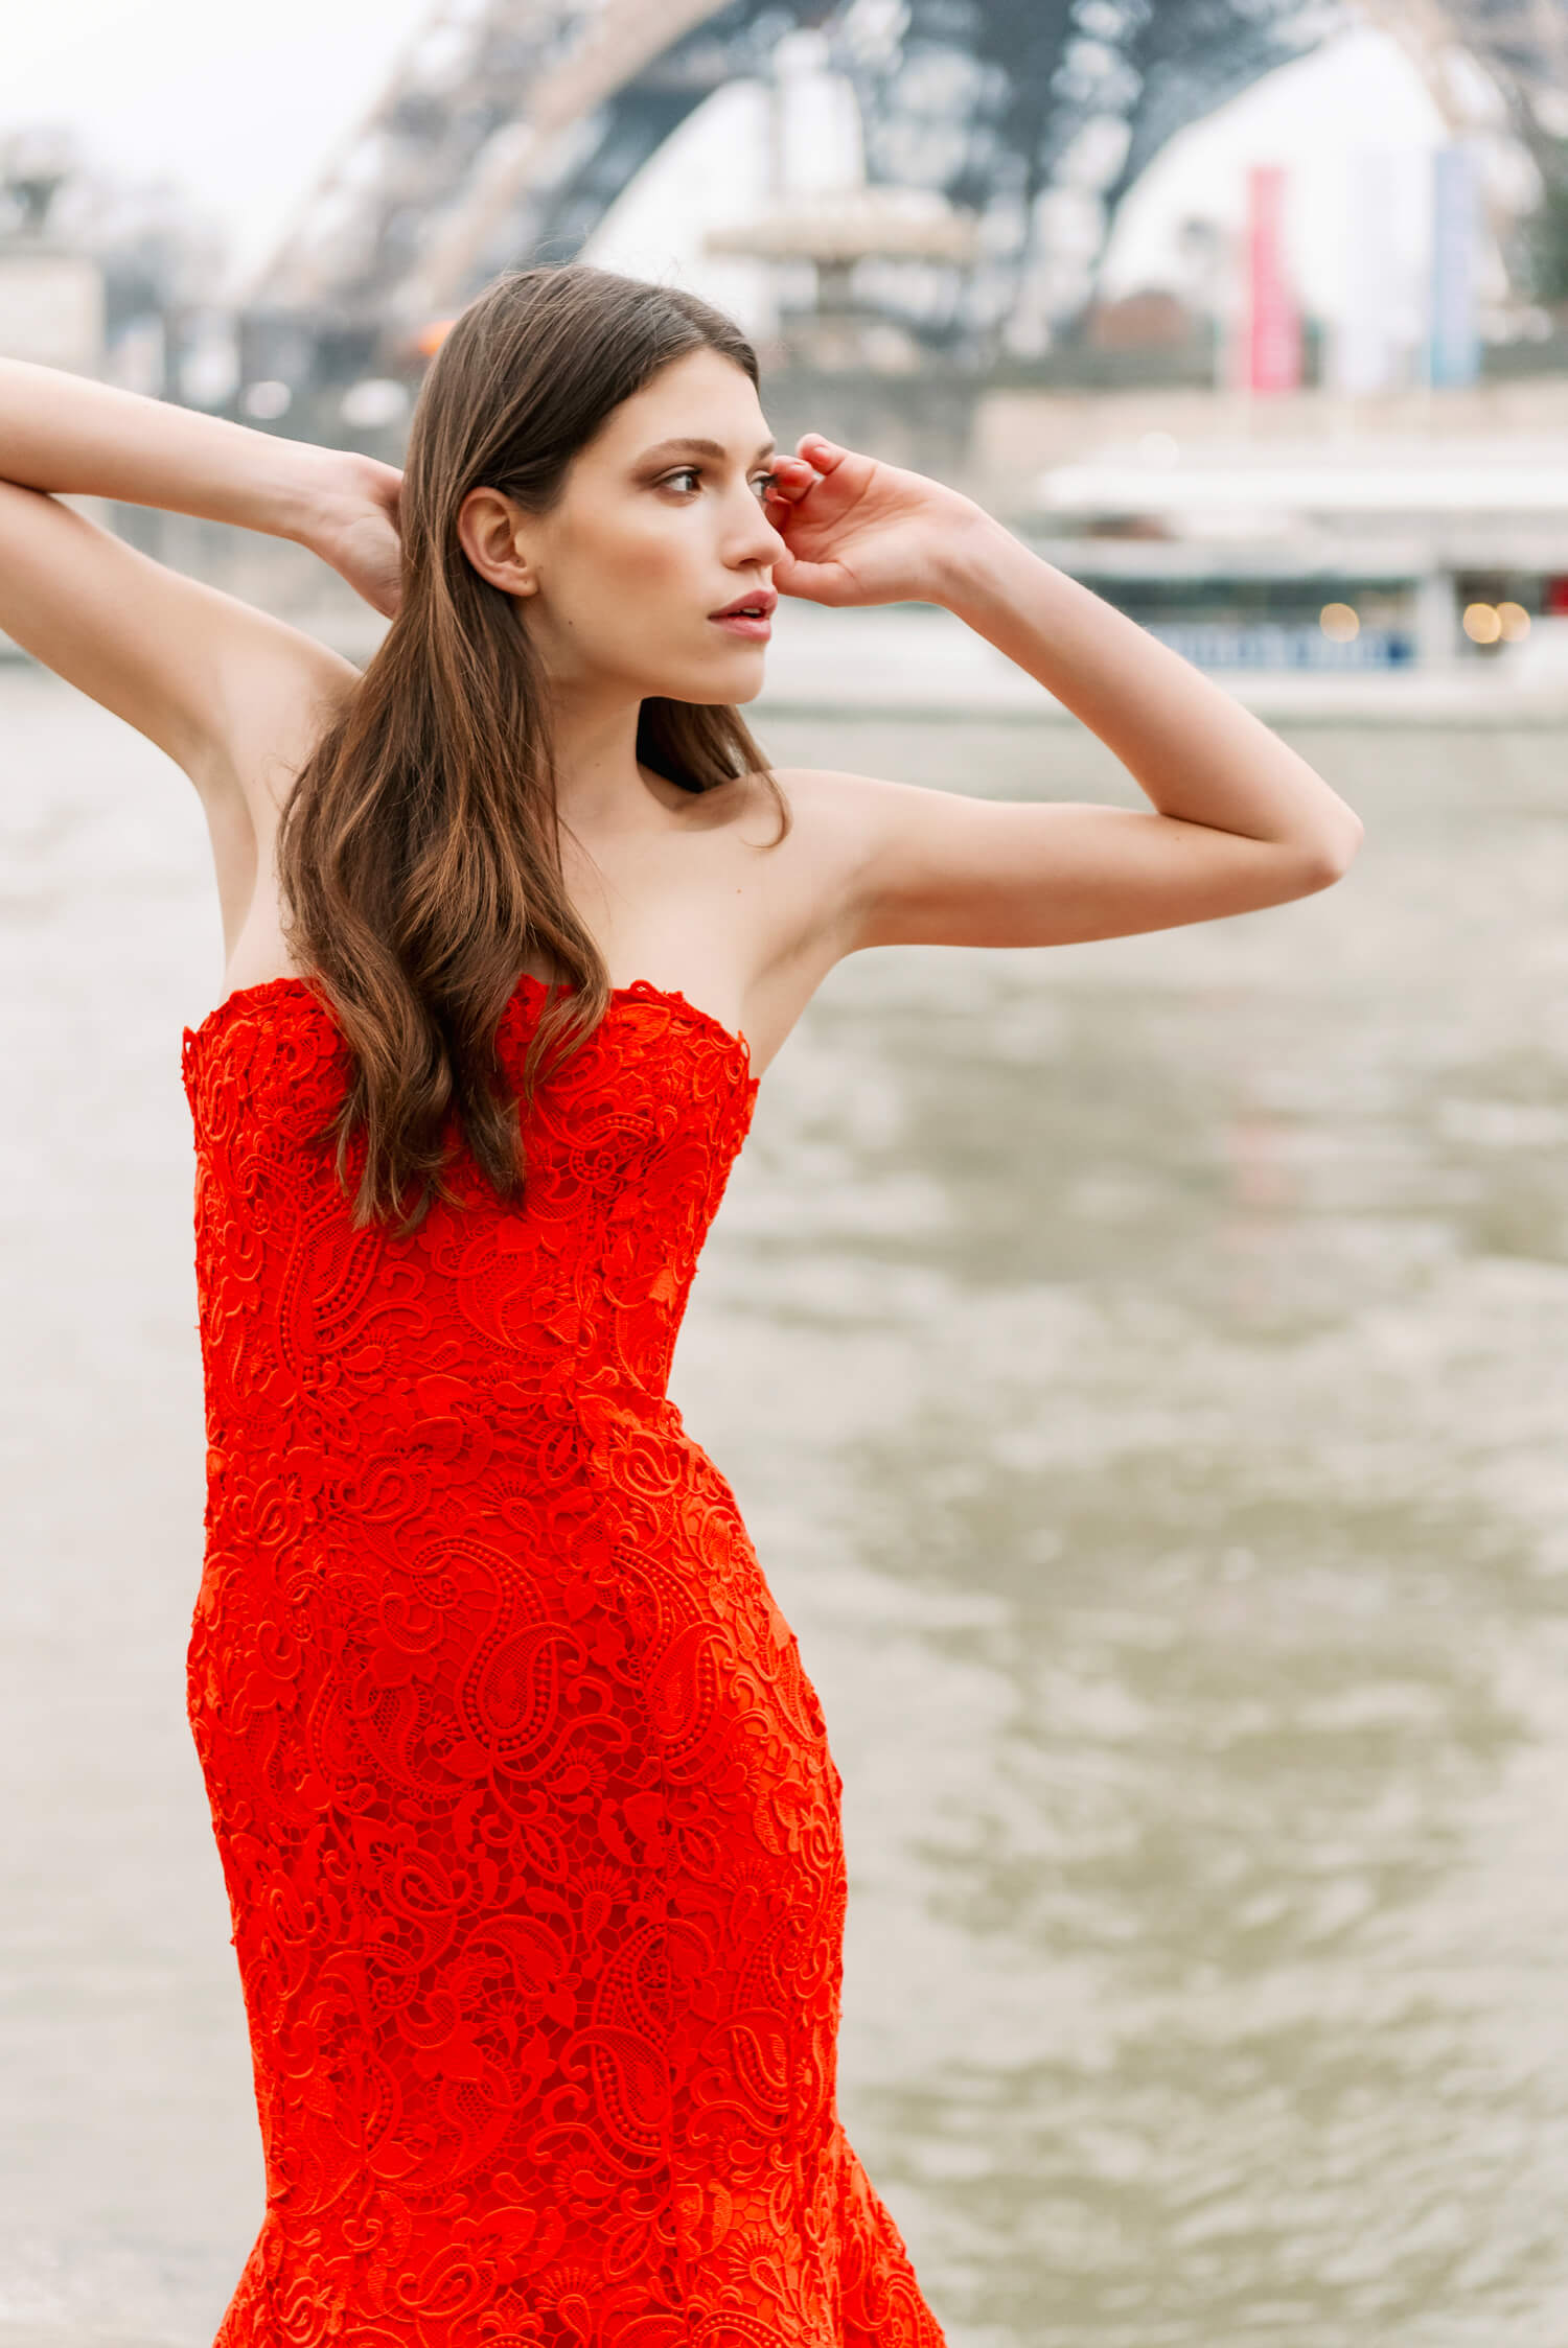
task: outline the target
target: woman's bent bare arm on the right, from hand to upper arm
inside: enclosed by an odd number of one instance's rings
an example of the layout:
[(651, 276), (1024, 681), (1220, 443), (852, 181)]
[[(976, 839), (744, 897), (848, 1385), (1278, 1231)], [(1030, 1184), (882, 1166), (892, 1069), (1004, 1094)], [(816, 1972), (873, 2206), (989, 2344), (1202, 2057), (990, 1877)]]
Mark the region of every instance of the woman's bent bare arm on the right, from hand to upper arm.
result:
[(845, 951), (1049, 946), (1214, 920), (1338, 880), (1361, 819), (1261, 718), (922, 474), (807, 434), (779, 460), (775, 585), (944, 603), (1099, 735), (1150, 810), (833, 777)]

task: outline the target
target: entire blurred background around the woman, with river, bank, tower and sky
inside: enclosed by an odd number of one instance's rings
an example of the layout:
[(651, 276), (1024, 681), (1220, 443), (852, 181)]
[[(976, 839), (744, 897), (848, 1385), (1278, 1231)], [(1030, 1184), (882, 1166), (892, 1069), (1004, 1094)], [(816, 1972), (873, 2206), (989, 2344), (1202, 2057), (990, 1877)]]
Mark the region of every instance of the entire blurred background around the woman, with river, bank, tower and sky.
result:
[[(1368, 824), (1244, 920), (854, 958), (763, 1082), (674, 1392), (845, 1775), (850, 2134), (955, 2348), (1563, 2348), (1568, 0), (5, 26), (5, 355), (397, 463), (455, 310), (570, 256)], [(925, 606), (786, 603), (756, 718), (1138, 798)], [(185, 780), (19, 655), (0, 765), (0, 2348), (200, 2348), (263, 2191), (183, 1719), (218, 916)]]

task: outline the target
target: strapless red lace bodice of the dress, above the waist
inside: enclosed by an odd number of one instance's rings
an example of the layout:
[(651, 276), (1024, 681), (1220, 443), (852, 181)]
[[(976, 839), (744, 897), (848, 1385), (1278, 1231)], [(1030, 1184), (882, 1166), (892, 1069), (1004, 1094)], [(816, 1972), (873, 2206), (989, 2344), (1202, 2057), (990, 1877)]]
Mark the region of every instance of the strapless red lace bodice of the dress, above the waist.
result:
[[(521, 1068), (545, 998), (523, 977), (498, 1033)], [(326, 1151), (343, 1035), (303, 979), (239, 989), (185, 1031), (197, 1136), (197, 1277), (209, 1383), (256, 1411), (392, 1413), (404, 1439), (460, 1439), (465, 1397), (521, 1430), (538, 1397), (636, 1409), (664, 1397), (697, 1254), (744, 1141), (746, 1040), (648, 981), (547, 1078), (526, 1122), (526, 1195), (500, 1205), (467, 1153), (453, 1202), (408, 1237), (354, 1230)], [(221, 1352), (221, 1359), (216, 1359)], [(498, 1421), (500, 1411), (500, 1421)], [(357, 1442), (364, 1418), (357, 1413)]]

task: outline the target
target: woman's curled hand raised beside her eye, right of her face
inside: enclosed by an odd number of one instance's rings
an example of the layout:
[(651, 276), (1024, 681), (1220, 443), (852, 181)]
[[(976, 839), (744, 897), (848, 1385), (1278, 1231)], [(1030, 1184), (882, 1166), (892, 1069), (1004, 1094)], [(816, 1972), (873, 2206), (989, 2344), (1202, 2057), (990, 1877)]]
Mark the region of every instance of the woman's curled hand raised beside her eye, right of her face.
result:
[(944, 554), (984, 512), (922, 472), (805, 432), (775, 458), (768, 519), (786, 545), (779, 594), (810, 603), (937, 603)]

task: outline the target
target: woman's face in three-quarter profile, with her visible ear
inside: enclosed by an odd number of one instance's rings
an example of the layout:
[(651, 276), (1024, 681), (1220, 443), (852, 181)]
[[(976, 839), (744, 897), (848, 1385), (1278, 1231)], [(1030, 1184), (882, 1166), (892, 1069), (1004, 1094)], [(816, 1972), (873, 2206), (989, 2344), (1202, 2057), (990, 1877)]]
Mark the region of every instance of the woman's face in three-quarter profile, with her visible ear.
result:
[(763, 512), (770, 463), (751, 378), (695, 350), (606, 418), (549, 514), (469, 491), (462, 545), (521, 599), (559, 690), (749, 702), (784, 552)]

